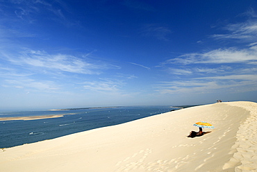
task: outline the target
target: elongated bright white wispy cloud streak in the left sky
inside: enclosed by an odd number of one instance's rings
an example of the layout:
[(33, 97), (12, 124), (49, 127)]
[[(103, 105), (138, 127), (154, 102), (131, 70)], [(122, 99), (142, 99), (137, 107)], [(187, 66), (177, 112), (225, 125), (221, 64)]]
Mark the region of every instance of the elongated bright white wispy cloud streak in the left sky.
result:
[[(6, 58), (17, 66), (35, 67), (52, 71), (66, 71), (75, 74), (100, 74), (100, 70), (113, 66), (98, 62), (87, 62), (74, 55), (49, 54), (44, 51), (26, 50), (15, 55), (5, 54)], [(15, 56), (15, 57), (14, 57)], [(89, 61), (89, 60), (88, 60)]]

